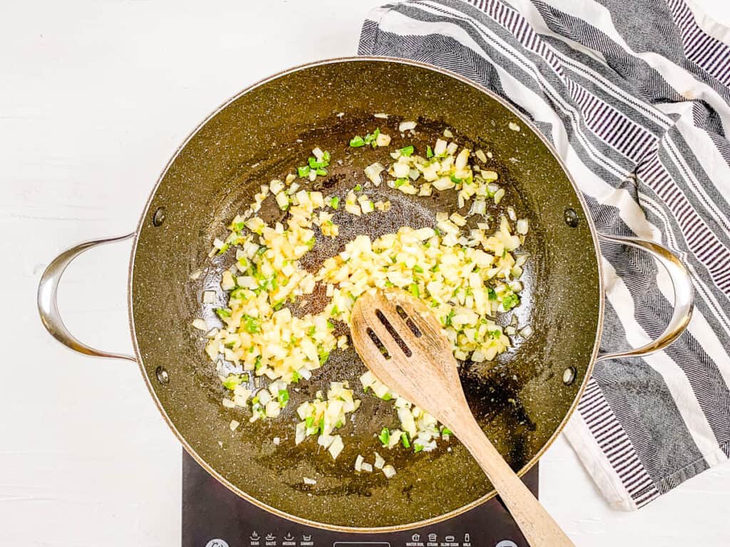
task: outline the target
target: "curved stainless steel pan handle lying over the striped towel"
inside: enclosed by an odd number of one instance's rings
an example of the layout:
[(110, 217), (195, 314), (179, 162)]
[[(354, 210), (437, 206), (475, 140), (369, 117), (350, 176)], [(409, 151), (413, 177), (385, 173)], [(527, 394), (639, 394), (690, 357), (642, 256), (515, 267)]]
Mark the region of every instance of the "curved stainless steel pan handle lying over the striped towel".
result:
[(685, 331), (689, 320), (692, 318), (694, 309), (694, 289), (692, 288), (692, 279), (685, 265), (680, 262), (669, 249), (662, 247), (660, 244), (641, 238), (628, 238), (621, 236), (607, 236), (603, 233), (598, 234), (603, 241), (616, 243), (620, 245), (629, 245), (648, 252), (657, 262), (666, 268), (669, 278), (672, 279), (672, 287), (675, 291), (675, 311), (672, 319), (669, 319), (669, 325), (666, 325), (664, 332), (659, 335), (656, 340), (651, 341), (644, 346), (629, 349), (626, 352), (612, 352), (599, 355), (596, 362), (605, 359), (616, 359), (618, 357), (642, 357), (644, 355), (658, 352), (672, 344)]

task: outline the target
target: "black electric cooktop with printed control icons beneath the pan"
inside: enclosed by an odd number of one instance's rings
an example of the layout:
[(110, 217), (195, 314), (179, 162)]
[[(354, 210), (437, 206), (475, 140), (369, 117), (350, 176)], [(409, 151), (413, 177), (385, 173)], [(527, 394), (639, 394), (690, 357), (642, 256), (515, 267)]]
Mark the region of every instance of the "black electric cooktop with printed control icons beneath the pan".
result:
[[(537, 466), (523, 480), (537, 494)], [(423, 529), (348, 534), (275, 516), (218, 483), (183, 451), (183, 547), (528, 547), (493, 498)]]

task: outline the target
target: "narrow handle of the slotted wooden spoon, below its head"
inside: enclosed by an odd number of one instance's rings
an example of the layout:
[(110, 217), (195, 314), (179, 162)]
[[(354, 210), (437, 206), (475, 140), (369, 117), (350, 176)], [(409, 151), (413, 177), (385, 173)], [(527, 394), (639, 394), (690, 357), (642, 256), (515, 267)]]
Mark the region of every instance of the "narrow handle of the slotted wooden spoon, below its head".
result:
[[(453, 420), (456, 422), (456, 420)], [(531, 547), (575, 547), (484, 434), (471, 412), (450, 429), (486, 473)]]

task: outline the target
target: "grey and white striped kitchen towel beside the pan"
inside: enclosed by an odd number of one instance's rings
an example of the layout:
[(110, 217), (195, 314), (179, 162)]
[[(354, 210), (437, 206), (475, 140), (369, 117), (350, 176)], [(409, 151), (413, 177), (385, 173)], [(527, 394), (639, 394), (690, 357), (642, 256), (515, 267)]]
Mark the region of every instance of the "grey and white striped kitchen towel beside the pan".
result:
[[(696, 310), (644, 359), (599, 362), (566, 435), (616, 507), (636, 509), (730, 456), (730, 31), (683, 0), (412, 0), (374, 9), (361, 55), (485, 85), (555, 144), (604, 233), (661, 241)], [(602, 351), (672, 314), (663, 268), (604, 246)]]

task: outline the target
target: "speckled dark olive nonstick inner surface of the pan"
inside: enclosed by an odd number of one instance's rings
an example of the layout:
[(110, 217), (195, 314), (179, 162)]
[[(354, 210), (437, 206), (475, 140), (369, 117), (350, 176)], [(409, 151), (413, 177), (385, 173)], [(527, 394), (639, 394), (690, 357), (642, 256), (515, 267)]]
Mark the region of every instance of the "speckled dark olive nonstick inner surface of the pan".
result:
[[(344, 115), (338, 117), (340, 112)], [(391, 117), (379, 120), (375, 112)], [(418, 120), (418, 135), (401, 138), (399, 120)], [(510, 130), (510, 122), (521, 131)], [(460, 144), (493, 152), (493, 168), (506, 183), (504, 204), (530, 220), (526, 250), (531, 258), (517, 313), (520, 325), (529, 322), (534, 334), (492, 365), (466, 363), (461, 376), (472, 410), (515, 470), (537, 461), (572, 410), (591, 368), (602, 315), (596, 246), (583, 203), (550, 148), (484, 90), (426, 66), (358, 58), (289, 71), (219, 109), (172, 160), (140, 223), (130, 286), (140, 366), (166, 420), (210, 473), (283, 516), (342, 529), (392, 529), (442, 519), (487, 499), (492, 486), (458, 441), (439, 443), (429, 454), (385, 450), (398, 470), (390, 480), (382, 473), (354, 473), (356, 455), (372, 459), (380, 446), (375, 434), (384, 424), (397, 424), (391, 403), (363, 395), (357, 379), (365, 369), (352, 349), (333, 352), (309, 383), (301, 383), (280, 419), (248, 424), (245, 411), (221, 406), (224, 389), (191, 321), (214, 317), (212, 306), (201, 304), (204, 290), (218, 290), (218, 305), (224, 303), (220, 271), (234, 256), (228, 252), (210, 260), (207, 252), (259, 185), (283, 178), (319, 146), (331, 151), (333, 162), (317, 187), (343, 197), (365, 182), (364, 166), (388, 159), (386, 149), (347, 146), (353, 135), (377, 126), (393, 136), (387, 150), (405, 144), (425, 150), (448, 127)], [(392, 211), (337, 214), (341, 236), (318, 238), (316, 252), (310, 253), (316, 258), (304, 260), (307, 268), (358, 234), (374, 238), (401, 225), (433, 225), (437, 211), (455, 209), (449, 193), (414, 199), (385, 185), (366, 192), (373, 199), (390, 199)], [(265, 220), (280, 214), (273, 205), (262, 209)], [(164, 222), (155, 225), (161, 207)], [(577, 212), (577, 227), (564, 221), (566, 209)], [(191, 280), (199, 268), (203, 275)], [(569, 367), (575, 368), (576, 379), (566, 385)], [(166, 383), (158, 381), (161, 368), (168, 373)], [(345, 450), (333, 461), (326, 451), (316, 451), (312, 438), (295, 447), (296, 406), (329, 381), (342, 379), (363, 400), (355, 423), (343, 427)], [(228, 422), (234, 418), (242, 426), (231, 432)], [(280, 446), (272, 443), (277, 436)], [(304, 485), (304, 476), (317, 484)]]

